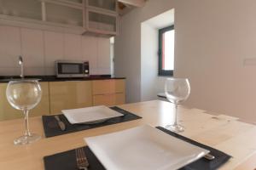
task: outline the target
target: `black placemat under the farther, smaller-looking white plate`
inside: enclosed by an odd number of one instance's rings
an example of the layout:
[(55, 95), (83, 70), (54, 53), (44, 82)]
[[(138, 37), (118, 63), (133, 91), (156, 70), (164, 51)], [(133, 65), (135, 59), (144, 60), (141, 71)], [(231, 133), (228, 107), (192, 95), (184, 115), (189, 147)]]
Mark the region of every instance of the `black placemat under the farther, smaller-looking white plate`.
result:
[(142, 118), (141, 116), (137, 116), (129, 111), (125, 111), (119, 107), (110, 107), (113, 111), (118, 111), (124, 116), (113, 117), (106, 122), (101, 122), (97, 124), (85, 125), (85, 124), (71, 124), (67, 121), (67, 118), (64, 115), (59, 115), (62, 122), (66, 125), (66, 130), (61, 131), (61, 128), (58, 126), (57, 121), (54, 116), (42, 116), (43, 126), (44, 126), (44, 134), (46, 138), (58, 136), (61, 134), (74, 133), (82, 130), (87, 130), (90, 128), (96, 127), (104, 127), (107, 125), (112, 125), (120, 122), (128, 122), (136, 119)]

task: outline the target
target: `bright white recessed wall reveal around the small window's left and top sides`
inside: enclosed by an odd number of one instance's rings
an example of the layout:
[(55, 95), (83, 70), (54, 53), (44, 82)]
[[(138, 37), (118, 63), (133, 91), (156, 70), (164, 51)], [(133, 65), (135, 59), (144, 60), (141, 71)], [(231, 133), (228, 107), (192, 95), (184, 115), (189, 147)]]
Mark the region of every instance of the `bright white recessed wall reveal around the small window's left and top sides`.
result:
[(159, 14), (142, 23), (141, 28), (141, 100), (158, 99), (164, 92), (167, 77), (158, 76), (159, 29), (172, 26), (174, 9)]

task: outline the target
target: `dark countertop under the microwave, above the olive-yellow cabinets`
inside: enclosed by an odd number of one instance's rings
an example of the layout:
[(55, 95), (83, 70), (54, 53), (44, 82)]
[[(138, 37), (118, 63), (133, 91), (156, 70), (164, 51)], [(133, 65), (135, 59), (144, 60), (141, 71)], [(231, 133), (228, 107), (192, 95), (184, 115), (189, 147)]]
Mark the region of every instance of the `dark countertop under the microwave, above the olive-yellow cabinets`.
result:
[[(26, 76), (25, 78), (39, 79), (39, 82), (66, 82), (66, 81), (91, 81), (91, 80), (110, 80), (125, 79), (125, 77), (111, 77), (110, 75), (90, 75), (83, 78), (57, 78), (55, 76)], [(9, 82), (10, 80), (20, 79), (18, 76), (0, 76), (0, 83)]]

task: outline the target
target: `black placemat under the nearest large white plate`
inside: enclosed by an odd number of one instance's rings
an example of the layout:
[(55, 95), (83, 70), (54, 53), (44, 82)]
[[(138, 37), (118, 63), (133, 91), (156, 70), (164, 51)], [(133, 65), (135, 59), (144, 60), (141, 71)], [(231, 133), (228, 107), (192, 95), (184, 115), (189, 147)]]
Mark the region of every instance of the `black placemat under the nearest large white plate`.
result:
[[(187, 165), (183, 168), (180, 168), (179, 170), (213, 170), (213, 169), (217, 169), (218, 167), (222, 166), (231, 157), (220, 150), (216, 150), (216, 149), (209, 147), (205, 144), (200, 144), (198, 142), (195, 142), (194, 140), (185, 138), (177, 133), (172, 133), (163, 127), (157, 127), (157, 128), (165, 133), (168, 133), (168, 134), (176, 137), (177, 139), (182, 139), (186, 142), (189, 142), (190, 144), (195, 144), (197, 146), (200, 146), (201, 148), (210, 150), (211, 151), (210, 153), (213, 156), (215, 156), (215, 159), (212, 161), (208, 161), (205, 158), (201, 158), (200, 160), (190, 163), (189, 165)], [(90, 163), (90, 167), (88, 168), (88, 170), (106, 170), (88, 146), (84, 147), (84, 152), (85, 152), (85, 155), (87, 156), (88, 161)], [(59, 170), (59, 169), (73, 170), (73, 169), (76, 169), (75, 150), (68, 150), (68, 151), (61, 152), (61, 153), (58, 153), (58, 154), (55, 154), (52, 156), (45, 156), (44, 157), (44, 168), (45, 168), (45, 170)]]

